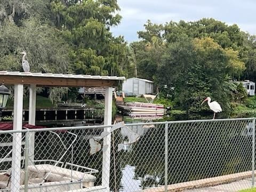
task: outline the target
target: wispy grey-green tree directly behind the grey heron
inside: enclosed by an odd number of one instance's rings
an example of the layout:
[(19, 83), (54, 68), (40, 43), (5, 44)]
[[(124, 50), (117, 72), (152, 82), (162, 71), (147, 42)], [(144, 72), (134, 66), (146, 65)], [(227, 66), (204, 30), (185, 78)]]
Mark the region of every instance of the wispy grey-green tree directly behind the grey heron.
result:
[(6, 21), (0, 28), (0, 69), (22, 71), (19, 52), (26, 51), (32, 72), (68, 73), (69, 47), (58, 33), (36, 18), (23, 20), (21, 26)]

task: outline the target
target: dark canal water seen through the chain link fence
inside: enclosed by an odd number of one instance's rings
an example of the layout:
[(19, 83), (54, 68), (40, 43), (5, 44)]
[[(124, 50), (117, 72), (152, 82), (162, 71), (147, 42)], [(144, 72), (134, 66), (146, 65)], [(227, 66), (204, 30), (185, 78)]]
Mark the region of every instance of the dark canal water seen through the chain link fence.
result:
[[(219, 117), (219, 116), (218, 116)], [(207, 117), (205, 117), (207, 118)], [(208, 117), (209, 118), (209, 117)], [(210, 117), (211, 118), (211, 117)], [(141, 123), (141, 122), (150, 122), (150, 121), (170, 121), (170, 120), (186, 120), (185, 117), (178, 116), (178, 117), (164, 117), (163, 119), (159, 118), (130, 118), (130, 117), (121, 117), (117, 116), (115, 120), (124, 121), (125, 123)], [(157, 185), (163, 185), (164, 183), (164, 126), (156, 126), (153, 128), (145, 129), (142, 126), (132, 126), (131, 129), (133, 132), (141, 135), (140, 139), (128, 146), (121, 151), (117, 151), (118, 143), (123, 142), (123, 137), (119, 131), (115, 132), (115, 169), (114, 169), (114, 160), (113, 160), (113, 153), (111, 154), (111, 191), (124, 191), (124, 192), (132, 192), (138, 191), (140, 189), (145, 189), (149, 187), (156, 187)], [(197, 158), (197, 161), (202, 161), (202, 164), (207, 165), (207, 169), (209, 171), (209, 177), (213, 177), (214, 174), (218, 175), (221, 174), (219, 171), (221, 170), (214, 170), (216, 167), (221, 167), (222, 164), (217, 164), (218, 159), (223, 154), (219, 154), (219, 150), (216, 148), (210, 149), (210, 145), (199, 145), (201, 140), (197, 140), (198, 138), (205, 139), (206, 143), (211, 142), (211, 137), (218, 139), (220, 142), (220, 148), (222, 151), (226, 151), (225, 153), (230, 154), (230, 157), (225, 158), (225, 163), (227, 166), (230, 167), (223, 167), (223, 169), (228, 169), (225, 171), (244, 171), (246, 167), (250, 167), (250, 163), (244, 164), (245, 159), (250, 159), (250, 151), (248, 149), (242, 148), (230, 148), (231, 144), (228, 146), (227, 143), (234, 143), (234, 142), (251, 142), (250, 138), (225, 138), (228, 135), (221, 135), (215, 134), (210, 129), (209, 133), (204, 132), (202, 129), (200, 132), (197, 132), (197, 129), (200, 127), (193, 127), (189, 126), (191, 132), (186, 132), (182, 130), (182, 127), (177, 127), (177, 130), (171, 129), (169, 132), (170, 140), (169, 142), (172, 143), (169, 146), (169, 175), (171, 175), (169, 183), (177, 183), (183, 182), (184, 180), (191, 180), (193, 178), (200, 179), (205, 177), (204, 172), (207, 174), (207, 170), (200, 169), (200, 166), (195, 167), (194, 163), (196, 159), (191, 159), (191, 150), (194, 151), (194, 157)], [(213, 128), (213, 127), (212, 127)], [(216, 129), (220, 129), (220, 131), (231, 129), (230, 127), (215, 127)], [(234, 127), (232, 127), (233, 129)], [(239, 127), (237, 127), (239, 129)], [(179, 129), (181, 129), (179, 131)], [(93, 130), (77, 130), (75, 133), (79, 135), (77, 142), (74, 144), (74, 163), (78, 165), (85, 165), (87, 167), (92, 167), (94, 169), (99, 170), (99, 174), (95, 174), (97, 180), (95, 181), (96, 185), (101, 185), (101, 167), (102, 167), (102, 153), (99, 152), (98, 154), (91, 156), (88, 152), (90, 150), (89, 146), (89, 139), (91, 135), (99, 135), (102, 130), (98, 132), (93, 132)], [(47, 135), (41, 133), (40, 137), (38, 138), (37, 143), (42, 143), (42, 145), (50, 145), (52, 142), (52, 150), (49, 151), (49, 154), (40, 154), (40, 156), (60, 156), (59, 147), (55, 145), (57, 140), (54, 142), (54, 139), (49, 138)], [(65, 133), (63, 133), (65, 134)], [(191, 137), (194, 135), (194, 137)], [(39, 135), (38, 135), (39, 136)], [(43, 138), (41, 140), (41, 138)], [(63, 135), (63, 138), (65, 135)], [(181, 140), (182, 138), (182, 140)], [(224, 140), (226, 139), (226, 140)], [(223, 143), (222, 143), (223, 141)], [(70, 142), (67, 140), (67, 142)], [(189, 144), (189, 145), (188, 145)], [(56, 149), (55, 149), (56, 146)], [(249, 146), (249, 145), (245, 145)], [(174, 147), (177, 147), (175, 149)], [(38, 148), (39, 149), (39, 148)], [(132, 150), (130, 150), (132, 149)], [(178, 150), (179, 153), (175, 154), (175, 150)], [(48, 150), (47, 150), (48, 151)], [(54, 151), (54, 154), (52, 153)], [(111, 148), (112, 151), (112, 148)], [(209, 153), (201, 153), (200, 151), (209, 151)], [(233, 151), (245, 151), (241, 153), (241, 157), (239, 159), (234, 159)], [(50, 153), (51, 152), (51, 153)], [(211, 158), (205, 158), (210, 157)], [(41, 158), (42, 157), (39, 157)], [(180, 165), (180, 159), (186, 159), (185, 162), (182, 162), (183, 166)], [(203, 159), (203, 160), (202, 160)], [(64, 160), (63, 160), (64, 161)], [(70, 154), (65, 157), (66, 162), (70, 162)], [(205, 162), (204, 162), (205, 161)], [(234, 162), (233, 162), (234, 161)], [(236, 167), (236, 162), (239, 163), (239, 167)], [(250, 162), (250, 161), (249, 161)], [(216, 164), (216, 167), (215, 167)], [(233, 167), (234, 164), (234, 167)], [(241, 166), (242, 164), (242, 166)], [(223, 164), (225, 165), (225, 164)], [(221, 168), (222, 169), (222, 168)], [(230, 170), (229, 170), (230, 169)], [(116, 172), (116, 179), (114, 179), (114, 174)], [(189, 173), (189, 174), (188, 174)], [(185, 177), (187, 176), (187, 178)], [(116, 183), (116, 186), (115, 186)], [(115, 189), (116, 188), (116, 189)]]

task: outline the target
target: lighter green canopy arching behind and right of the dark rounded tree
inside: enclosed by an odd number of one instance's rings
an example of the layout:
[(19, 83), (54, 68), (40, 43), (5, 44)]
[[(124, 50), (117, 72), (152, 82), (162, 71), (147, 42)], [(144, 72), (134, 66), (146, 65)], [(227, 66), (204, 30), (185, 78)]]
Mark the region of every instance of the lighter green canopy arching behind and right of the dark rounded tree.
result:
[[(229, 75), (231, 78), (239, 79), (243, 77), (245, 66), (249, 65), (249, 54), (246, 53), (245, 41), (251, 47), (252, 42), (248, 42), (243, 31), (237, 25), (228, 26), (225, 22), (215, 19), (203, 18), (192, 22), (173, 22), (167, 23), (164, 26), (164, 37), (167, 42), (175, 42), (180, 36), (188, 36), (191, 38), (210, 37), (215, 43), (226, 50), (229, 57)], [(250, 50), (250, 49), (249, 49)]]

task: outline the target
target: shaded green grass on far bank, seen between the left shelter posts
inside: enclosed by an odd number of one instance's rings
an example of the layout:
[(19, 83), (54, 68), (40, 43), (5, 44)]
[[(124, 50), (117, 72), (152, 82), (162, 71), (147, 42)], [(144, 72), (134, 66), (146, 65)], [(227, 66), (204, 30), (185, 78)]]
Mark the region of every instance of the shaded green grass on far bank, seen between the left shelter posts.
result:
[[(23, 109), (28, 109), (29, 97), (23, 98)], [(36, 108), (54, 108), (55, 106), (51, 103), (49, 98), (36, 96)], [(13, 108), (13, 98), (9, 99), (6, 105), (7, 109)]]

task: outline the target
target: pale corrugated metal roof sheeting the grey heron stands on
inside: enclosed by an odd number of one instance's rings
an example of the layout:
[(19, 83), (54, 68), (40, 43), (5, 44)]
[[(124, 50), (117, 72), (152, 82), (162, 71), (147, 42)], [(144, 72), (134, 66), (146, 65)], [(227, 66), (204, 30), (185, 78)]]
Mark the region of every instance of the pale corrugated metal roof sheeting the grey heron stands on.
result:
[(52, 74), (52, 73), (30, 73), (30, 72), (19, 72), (19, 71), (0, 71), (2, 75), (13, 75), (13, 76), (31, 76), (31, 77), (55, 77), (55, 78), (74, 78), (74, 79), (102, 79), (102, 80), (116, 80), (124, 81), (125, 77), (117, 76), (99, 76), (99, 75), (73, 75), (73, 74)]

